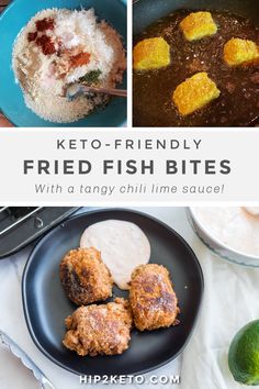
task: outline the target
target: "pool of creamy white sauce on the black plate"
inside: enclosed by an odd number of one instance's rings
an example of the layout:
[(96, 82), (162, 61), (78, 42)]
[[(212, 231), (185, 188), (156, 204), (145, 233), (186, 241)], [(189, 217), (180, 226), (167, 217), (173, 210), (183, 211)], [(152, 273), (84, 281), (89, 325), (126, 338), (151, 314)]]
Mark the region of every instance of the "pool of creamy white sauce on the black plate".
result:
[(114, 282), (128, 289), (132, 271), (150, 258), (150, 244), (144, 232), (134, 223), (106, 220), (90, 225), (82, 234), (80, 247), (95, 247)]

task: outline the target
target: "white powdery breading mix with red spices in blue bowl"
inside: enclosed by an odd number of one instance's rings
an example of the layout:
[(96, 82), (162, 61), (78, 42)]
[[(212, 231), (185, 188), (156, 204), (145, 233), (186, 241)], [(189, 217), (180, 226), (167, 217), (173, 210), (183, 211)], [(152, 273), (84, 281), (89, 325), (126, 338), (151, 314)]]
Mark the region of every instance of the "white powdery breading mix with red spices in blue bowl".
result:
[(114, 88), (126, 68), (121, 36), (94, 10), (46, 9), (18, 35), (13, 70), (26, 105), (52, 122), (74, 122), (105, 104), (103, 95), (68, 101), (65, 90), (81, 77), (97, 74), (94, 86)]

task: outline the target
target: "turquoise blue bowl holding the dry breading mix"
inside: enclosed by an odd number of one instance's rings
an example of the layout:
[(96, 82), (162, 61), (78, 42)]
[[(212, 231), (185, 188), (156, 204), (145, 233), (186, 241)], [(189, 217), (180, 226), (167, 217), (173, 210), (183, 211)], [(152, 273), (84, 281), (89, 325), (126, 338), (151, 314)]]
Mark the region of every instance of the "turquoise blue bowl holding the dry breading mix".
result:
[[(52, 123), (38, 118), (24, 103), (21, 87), (12, 70), (12, 47), (21, 29), (38, 11), (47, 8), (89, 9), (93, 7), (123, 37), (126, 47), (126, 0), (14, 0), (0, 16), (0, 110), (15, 125), (44, 126), (122, 126), (126, 121), (126, 99), (114, 98), (104, 110), (74, 123)], [(126, 75), (123, 88), (126, 89)]]

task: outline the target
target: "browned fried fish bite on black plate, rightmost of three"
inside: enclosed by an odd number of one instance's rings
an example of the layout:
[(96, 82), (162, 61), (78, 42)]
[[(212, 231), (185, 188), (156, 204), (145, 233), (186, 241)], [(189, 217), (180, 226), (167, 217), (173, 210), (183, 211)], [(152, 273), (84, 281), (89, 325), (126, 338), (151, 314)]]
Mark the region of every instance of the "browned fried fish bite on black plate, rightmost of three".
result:
[(132, 274), (130, 303), (139, 331), (167, 327), (179, 313), (169, 271), (161, 265), (140, 265)]

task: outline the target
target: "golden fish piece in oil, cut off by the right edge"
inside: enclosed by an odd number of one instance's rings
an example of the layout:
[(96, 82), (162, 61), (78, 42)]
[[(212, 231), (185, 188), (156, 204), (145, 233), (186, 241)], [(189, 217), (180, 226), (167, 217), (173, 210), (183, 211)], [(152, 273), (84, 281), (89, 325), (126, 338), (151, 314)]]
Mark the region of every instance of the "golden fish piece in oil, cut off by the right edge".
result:
[(224, 46), (224, 60), (229, 66), (259, 60), (259, 46), (252, 41), (233, 37)]

